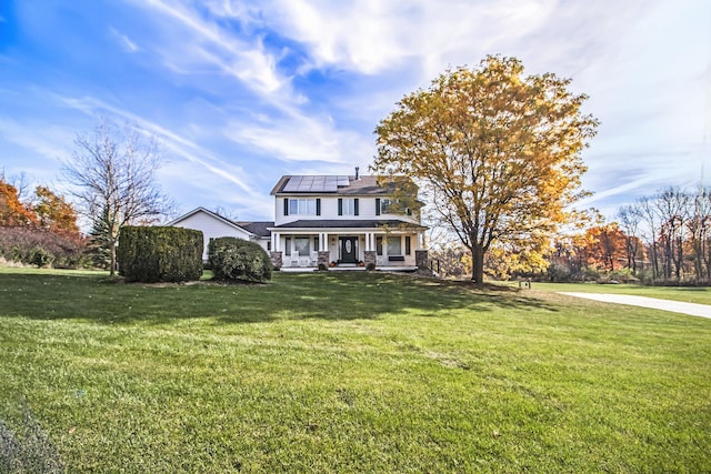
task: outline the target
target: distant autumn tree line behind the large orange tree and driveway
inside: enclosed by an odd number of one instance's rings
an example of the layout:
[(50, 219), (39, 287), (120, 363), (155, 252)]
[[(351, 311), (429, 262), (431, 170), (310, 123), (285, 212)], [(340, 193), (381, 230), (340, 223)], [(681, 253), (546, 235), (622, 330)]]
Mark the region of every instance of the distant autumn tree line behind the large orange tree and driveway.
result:
[[(433, 246), (444, 276), (471, 272), (467, 249), (441, 235)], [(664, 188), (620, 206), (611, 222), (598, 215), (541, 246), (499, 243), (487, 255), (484, 273), (494, 280), (709, 285), (711, 188)]]

